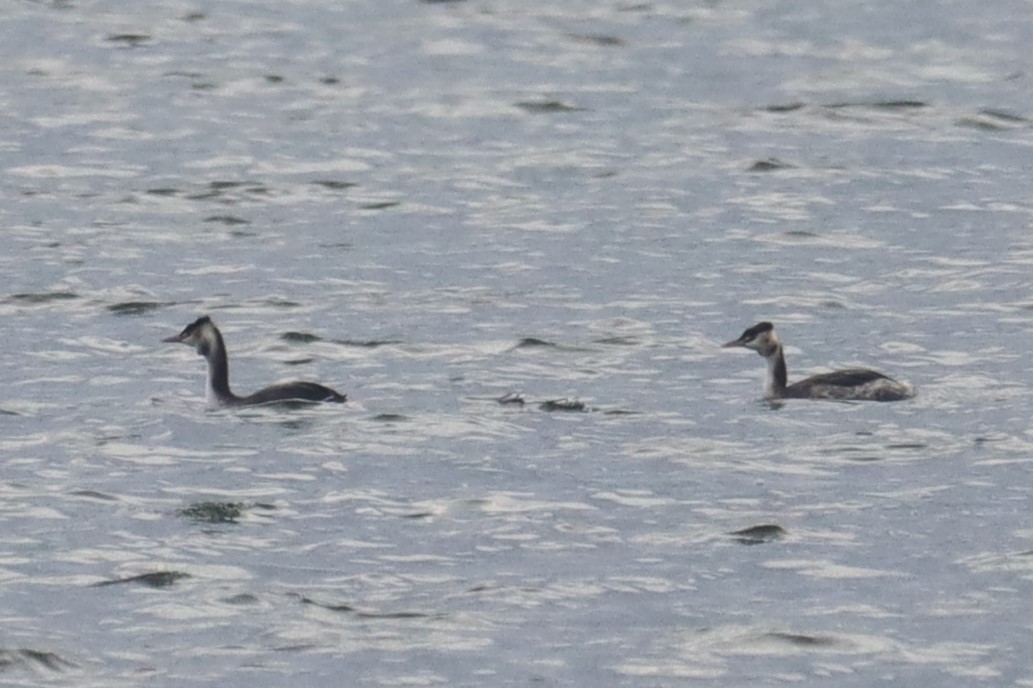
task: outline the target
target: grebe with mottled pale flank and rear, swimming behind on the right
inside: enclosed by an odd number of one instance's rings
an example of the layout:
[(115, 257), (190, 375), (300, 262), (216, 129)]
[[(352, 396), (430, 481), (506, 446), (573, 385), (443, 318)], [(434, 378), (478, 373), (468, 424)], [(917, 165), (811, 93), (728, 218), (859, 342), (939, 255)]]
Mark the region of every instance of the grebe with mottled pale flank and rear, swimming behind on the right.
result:
[(768, 361), (768, 379), (764, 381), (764, 397), (768, 399), (901, 401), (914, 397), (914, 387), (910, 384), (867, 368), (821, 373), (787, 385), (782, 342), (771, 322), (758, 322), (724, 346), (753, 349)]

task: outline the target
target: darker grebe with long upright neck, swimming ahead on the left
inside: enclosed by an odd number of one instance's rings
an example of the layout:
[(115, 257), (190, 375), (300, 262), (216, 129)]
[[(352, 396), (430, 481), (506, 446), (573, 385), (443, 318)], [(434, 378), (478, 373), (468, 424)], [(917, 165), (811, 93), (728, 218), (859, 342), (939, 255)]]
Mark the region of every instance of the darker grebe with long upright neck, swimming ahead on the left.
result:
[(222, 333), (207, 315), (188, 324), (179, 335), (161, 341), (193, 346), (198, 355), (208, 361), (206, 398), (210, 406), (251, 406), (282, 401), (343, 402), (347, 399), (315, 382), (283, 382), (247, 397), (238, 397), (229, 390), (229, 364), (226, 361), (226, 345), (222, 341)]

